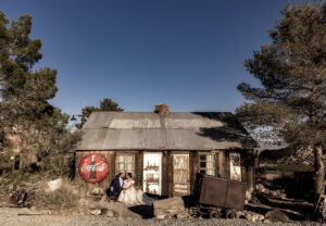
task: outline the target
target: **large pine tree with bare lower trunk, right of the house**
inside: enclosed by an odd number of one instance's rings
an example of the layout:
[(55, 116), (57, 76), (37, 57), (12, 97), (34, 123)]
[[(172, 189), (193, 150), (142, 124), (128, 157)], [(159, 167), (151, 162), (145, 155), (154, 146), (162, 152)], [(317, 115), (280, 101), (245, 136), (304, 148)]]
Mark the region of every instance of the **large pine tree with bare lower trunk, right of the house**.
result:
[(275, 128), (291, 147), (312, 150), (315, 158), (315, 193), (325, 179), (326, 145), (326, 24), (322, 2), (298, 3), (281, 11), (269, 30), (272, 43), (246, 60), (261, 87), (240, 84), (249, 102), (237, 109), (240, 118)]

